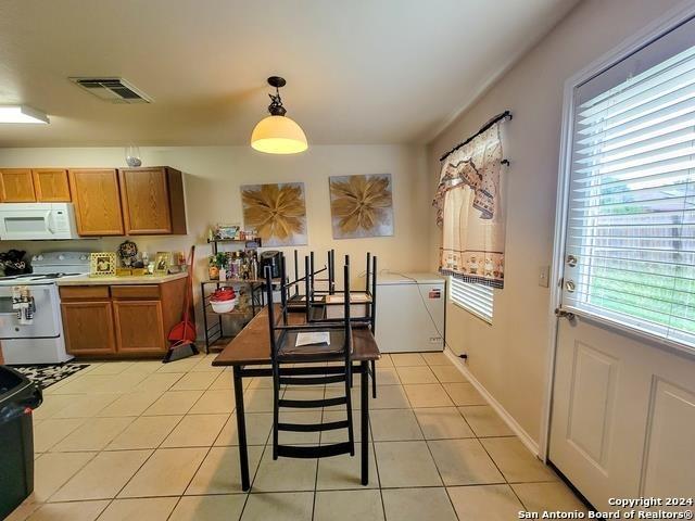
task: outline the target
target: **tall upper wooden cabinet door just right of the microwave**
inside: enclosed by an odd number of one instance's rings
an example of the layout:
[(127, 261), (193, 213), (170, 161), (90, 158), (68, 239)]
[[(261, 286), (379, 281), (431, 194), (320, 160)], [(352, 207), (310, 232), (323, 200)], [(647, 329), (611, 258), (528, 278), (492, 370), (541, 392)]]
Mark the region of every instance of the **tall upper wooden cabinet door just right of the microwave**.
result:
[(114, 169), (67, 171), (80, 236), (123, 236), (118, 176)]

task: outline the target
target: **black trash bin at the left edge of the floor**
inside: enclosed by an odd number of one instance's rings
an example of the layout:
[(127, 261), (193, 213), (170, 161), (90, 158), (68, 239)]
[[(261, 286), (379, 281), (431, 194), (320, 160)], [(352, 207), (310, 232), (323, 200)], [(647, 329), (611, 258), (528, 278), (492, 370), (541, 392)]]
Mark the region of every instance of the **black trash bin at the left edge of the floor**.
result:
[(34, 491), (31, 410), (41, 390), (21, 372), (0, 366), (0, 519)]

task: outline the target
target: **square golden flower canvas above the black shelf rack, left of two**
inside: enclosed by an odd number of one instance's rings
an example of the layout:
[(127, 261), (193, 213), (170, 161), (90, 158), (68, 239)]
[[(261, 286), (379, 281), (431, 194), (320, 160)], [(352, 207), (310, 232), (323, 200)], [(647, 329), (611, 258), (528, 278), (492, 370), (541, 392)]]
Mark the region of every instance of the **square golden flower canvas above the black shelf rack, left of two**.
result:
[(241, 203), (244, 227), (255, 229), (264, 246), (307, 243), (303, 182), (244, 185)]

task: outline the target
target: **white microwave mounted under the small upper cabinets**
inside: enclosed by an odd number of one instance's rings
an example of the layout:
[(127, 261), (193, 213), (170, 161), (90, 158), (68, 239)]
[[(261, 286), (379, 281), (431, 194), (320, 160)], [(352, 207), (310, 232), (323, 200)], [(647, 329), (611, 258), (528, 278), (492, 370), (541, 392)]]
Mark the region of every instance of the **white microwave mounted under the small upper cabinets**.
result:
[(0, 203), (0, 239), (79, 239), (73, 203)]

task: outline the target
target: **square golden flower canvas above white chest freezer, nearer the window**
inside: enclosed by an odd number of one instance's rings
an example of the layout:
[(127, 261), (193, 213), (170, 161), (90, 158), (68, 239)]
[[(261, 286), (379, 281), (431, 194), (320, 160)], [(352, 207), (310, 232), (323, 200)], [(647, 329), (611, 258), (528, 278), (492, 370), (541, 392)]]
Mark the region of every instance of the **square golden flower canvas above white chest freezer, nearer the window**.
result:
[(393, 236), (391, 174), (329, 179), (333, 239)]

